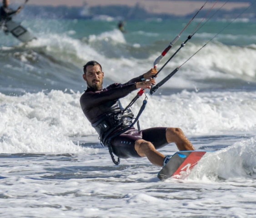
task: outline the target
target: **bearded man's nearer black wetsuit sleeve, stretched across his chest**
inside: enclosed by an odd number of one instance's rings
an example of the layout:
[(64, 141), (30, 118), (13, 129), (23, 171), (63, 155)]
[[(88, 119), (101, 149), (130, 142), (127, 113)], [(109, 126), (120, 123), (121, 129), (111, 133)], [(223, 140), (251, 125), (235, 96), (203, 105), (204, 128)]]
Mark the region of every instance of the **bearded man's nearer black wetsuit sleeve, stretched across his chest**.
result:
[(136, 84), (113, 84), (100, 92), (85, 92), (80, 98), (82, 109), (89, 109), (108, 101), (124, 98), (136, 90)]

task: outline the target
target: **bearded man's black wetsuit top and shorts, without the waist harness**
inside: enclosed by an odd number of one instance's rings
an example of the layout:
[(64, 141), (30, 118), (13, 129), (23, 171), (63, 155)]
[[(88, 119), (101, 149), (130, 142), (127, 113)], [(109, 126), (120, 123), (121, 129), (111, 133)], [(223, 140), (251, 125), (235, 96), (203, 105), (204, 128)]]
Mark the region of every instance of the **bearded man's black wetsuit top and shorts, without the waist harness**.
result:
[[(125, 84), (111, 84), (105, 89), (94, 91), (88, 88), (80, 98), (81, 108), (90, 121), (95, 124), (98, 120), (110, 113), (111, 106), (119, 102), (120, 98), (125, 97), (132, 91), (136, 90), (136, 82), (141, 82), (143, 75), (131, 79)], [(120, 102), (115, 111), (122, 110)], [(112, 134), (116, 134), (122, 130), (122, 127), (115, 129)], [(144, 139), (154, 144), (156, 149), (165, 146), (166, 128), (151, 128), (138, 131), (134, 127), (127, 130), (125, 133), (116, 136), (111, 140), (111, 147), (114, 154), (120, 158), (140, 157), (135, 150), (135, 142), (138, 139)]]

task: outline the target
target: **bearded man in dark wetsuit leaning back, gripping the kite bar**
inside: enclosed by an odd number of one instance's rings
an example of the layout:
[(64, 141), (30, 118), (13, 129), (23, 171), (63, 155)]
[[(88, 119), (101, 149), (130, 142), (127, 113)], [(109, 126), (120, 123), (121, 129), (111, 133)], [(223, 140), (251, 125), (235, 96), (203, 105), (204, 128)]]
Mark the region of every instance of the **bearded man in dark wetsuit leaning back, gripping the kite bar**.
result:
[[(130, 109), (123, 111), (119, 99), (136, 89), (150, 89), (156, 84), (152, 76), (156, 75), (157, 69), (151, 69), (125, 84), (114, 83), (105, 89), (102, 87), (104, 72), (98, 62), (89, 61), (83, 70), (87, 89), (80, 98), (81, 108), (100, 135), (101, 142), (111, 146), (116, 156), (124, 159), (147, 157), (154, 165), (163, 166), (169, 158), (156, 149), (175, 143), (179, 150), (195, 150), (179, 128), (156, 127), (139, 131), (131, 127), (122, 132), (129, 127), (134, 115)], [(113, 135), (115, 137), (111, 138)]]

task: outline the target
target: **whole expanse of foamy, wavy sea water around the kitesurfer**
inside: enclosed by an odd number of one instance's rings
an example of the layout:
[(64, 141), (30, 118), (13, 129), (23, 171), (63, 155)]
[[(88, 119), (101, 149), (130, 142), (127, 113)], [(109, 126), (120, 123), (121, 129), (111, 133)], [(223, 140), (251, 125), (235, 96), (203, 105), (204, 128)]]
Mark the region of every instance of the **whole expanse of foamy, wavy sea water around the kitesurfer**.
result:
[[(215, 151), (185, 180), (160, 181), (147, 159), (115, 166), (80, 108), (82, 66), (101, 63), (104, 86), (141, 75), (189, 20), (24, 20), (37, 40), (0, 32), (1, 218), (255, 218), (256, 23), (236, 20), (148, 96), (142, 129), (179, 127)], [(196, 19), (162, 60), (196, 28)], [(159, 74), (179, 67), (228, 20), (210, 20)], [(121, 99), (126, 106), (136, 92)], [(141, 106), (138, 100), (132, 110)], [(161, 153), (174, 154), (169, 144)]]

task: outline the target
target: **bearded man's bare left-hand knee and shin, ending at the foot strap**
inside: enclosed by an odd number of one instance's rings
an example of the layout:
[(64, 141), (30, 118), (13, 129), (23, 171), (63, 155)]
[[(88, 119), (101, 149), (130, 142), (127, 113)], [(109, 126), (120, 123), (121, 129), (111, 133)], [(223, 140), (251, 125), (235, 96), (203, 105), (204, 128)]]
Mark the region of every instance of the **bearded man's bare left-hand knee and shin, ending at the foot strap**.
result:
[(158, 152), (151, 142), (139, 139), (135, 143), (135, 150), (141, 157), (147, 157), (154, 165), (163, 166), (165, 155)]

